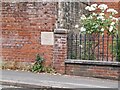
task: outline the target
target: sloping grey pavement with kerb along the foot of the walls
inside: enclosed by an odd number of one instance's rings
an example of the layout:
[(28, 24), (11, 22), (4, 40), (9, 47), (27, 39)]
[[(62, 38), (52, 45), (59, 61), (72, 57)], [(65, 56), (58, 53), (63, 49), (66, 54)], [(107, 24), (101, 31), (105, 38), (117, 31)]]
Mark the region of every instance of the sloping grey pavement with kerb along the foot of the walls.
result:
[(107, 79), (12, 70), (0, 70), (0, 72), (2, 72), (1, 84), (17, 87), (118, 90), (119, 86), (118, 81)]

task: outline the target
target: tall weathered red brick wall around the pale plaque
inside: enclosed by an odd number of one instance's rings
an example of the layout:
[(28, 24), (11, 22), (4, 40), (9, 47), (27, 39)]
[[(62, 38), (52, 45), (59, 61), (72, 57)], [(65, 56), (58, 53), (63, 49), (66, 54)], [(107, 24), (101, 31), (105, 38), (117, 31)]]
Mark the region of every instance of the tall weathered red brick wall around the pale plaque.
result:
[(3, 60), (33, 62), (36, 54), (53, 59), (53, 46), (40, 43), (40, 33), (52, 32), (56, 21), (55, 3), (2, 2)]

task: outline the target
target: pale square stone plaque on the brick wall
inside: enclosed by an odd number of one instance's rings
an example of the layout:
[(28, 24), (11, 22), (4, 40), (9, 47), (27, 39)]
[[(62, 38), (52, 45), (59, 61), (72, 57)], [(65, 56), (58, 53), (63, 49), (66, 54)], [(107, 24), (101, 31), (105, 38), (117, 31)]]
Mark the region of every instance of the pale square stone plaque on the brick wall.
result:
[(54, 45), (54, 33), (41, 32), (41, 45)]

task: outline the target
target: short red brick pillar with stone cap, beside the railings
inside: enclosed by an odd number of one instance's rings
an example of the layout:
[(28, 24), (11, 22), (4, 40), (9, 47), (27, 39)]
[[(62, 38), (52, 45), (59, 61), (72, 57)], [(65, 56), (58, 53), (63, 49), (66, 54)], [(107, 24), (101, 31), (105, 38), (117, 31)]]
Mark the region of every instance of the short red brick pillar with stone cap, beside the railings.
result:
[(67, 30), (59, 29), (55, 32), (54, 61), (57, 72), (64, 73), (65, 59), (67, 59)]

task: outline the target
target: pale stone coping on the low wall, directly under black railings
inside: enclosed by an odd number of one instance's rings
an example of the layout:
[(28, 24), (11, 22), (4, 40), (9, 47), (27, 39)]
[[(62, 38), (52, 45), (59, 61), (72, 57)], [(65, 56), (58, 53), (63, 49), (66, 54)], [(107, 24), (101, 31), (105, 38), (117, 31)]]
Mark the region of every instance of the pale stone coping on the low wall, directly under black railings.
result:
[(65, 64), (96, 65), (96, 66), (115, 66), (115, 67), (120, 67), (120, 62), (93, 61), (93, 60), (75, 60), (75, 59), (66, 59), (66, 60), (65, 60)]

